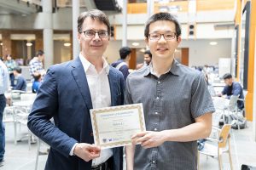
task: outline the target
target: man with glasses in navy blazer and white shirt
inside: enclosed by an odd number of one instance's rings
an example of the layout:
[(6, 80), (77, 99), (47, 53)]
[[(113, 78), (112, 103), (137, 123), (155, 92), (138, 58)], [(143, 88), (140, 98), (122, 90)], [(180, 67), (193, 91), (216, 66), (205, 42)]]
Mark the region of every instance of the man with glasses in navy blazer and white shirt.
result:
[(122, 170), (122, 148), (96, 146), (90, 122), (90, 109), (124, 102), (124, 77), (102, 56), (110, 39), (108, 17), (96, 9), (84, 12), (78, 31), (79, 57), (49, 68), (27, 125), (51, 147), (45, 169)]

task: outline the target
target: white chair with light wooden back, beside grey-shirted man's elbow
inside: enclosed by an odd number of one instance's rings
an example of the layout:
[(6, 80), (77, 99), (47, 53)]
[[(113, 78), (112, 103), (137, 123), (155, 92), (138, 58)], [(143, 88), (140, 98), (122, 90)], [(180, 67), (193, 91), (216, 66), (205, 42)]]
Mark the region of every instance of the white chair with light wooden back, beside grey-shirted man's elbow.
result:
[(230, 168), (233, 170), (230, 153), (230, 128), (230, 124), (224, 124), (221, 129), (212, 127), (212, 130), (218, 131), (218, 137), (217, 139), (207, 138), (204, 148), (202, 150), (198, 150), (198, 167), (200, 162), (200, 154), (203, 154), (206, 156), (212, 156), (213, 158), (218, 158), (218, 167), (219, 170), (222, 170), (222, 155), (224, 152), (228, 152), (230, 157)]

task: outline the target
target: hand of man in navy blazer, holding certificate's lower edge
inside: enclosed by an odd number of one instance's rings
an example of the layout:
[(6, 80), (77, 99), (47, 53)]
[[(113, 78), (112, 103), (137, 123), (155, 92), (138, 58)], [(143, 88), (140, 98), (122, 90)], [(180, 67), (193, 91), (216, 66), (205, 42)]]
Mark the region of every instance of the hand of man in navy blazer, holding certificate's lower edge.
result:
[(84, 161), (90, 161), (100, 156), (101, 148), (94, 144), (80, 143), (75, 146), (73, 153)]

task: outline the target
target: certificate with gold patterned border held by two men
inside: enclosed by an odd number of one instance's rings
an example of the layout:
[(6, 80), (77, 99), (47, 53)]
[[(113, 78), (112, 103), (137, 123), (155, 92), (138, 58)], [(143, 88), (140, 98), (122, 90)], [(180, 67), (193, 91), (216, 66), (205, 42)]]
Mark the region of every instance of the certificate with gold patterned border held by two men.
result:
[(96, 145), (113, 148), (131, 144), (131, 136), (146, 131), (143, 104), (119, 105), (90, 110)]

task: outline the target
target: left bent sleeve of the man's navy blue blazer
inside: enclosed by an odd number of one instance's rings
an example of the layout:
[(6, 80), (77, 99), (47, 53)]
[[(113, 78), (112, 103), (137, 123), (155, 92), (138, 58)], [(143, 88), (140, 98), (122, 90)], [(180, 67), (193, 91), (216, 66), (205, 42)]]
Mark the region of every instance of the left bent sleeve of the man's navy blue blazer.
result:
[(58, 82), (55, 77), (54, 69), (49, 68), (44, 77), (44, 82), (38, 90), (37, 99), (32, 105), (27, 127), (53, 149), (68, 157), (73, 145), (78, 141), (70, 138), (53, 122), (50, 122), (50, 119), (54, 116), (55, 122), (58, 121)]

